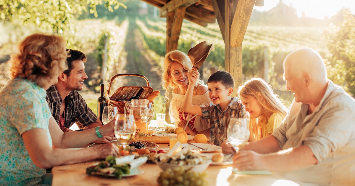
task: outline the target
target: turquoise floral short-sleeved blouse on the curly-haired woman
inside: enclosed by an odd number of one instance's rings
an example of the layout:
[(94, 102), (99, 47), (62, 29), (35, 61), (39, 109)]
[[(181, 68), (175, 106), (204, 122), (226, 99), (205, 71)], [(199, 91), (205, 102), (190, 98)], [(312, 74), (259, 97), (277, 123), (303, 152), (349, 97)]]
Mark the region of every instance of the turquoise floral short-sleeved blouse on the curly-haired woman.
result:
[(52, 117), (45, 100), (46, 91), (20, 78), (10, 80), (0, 91), (0, 185), (36, 185), (45, 169), (34, 165), (21, 135), (34, 128), (47, 132)]

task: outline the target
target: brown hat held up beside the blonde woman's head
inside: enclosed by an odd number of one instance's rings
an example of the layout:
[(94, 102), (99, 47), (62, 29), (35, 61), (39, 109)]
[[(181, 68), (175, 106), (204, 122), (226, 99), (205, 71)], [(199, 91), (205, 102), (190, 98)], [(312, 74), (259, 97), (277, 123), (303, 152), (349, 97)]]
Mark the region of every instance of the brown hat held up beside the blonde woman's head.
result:
[(195, 47), (192, 47), (189, 52), (187, 52), (187, 56), (190, 58), (193, 67), (196, 67), (197, 69), (200, 68), (212, 49), (213, 44), (208, 45), (206, 41), (198, 43)]

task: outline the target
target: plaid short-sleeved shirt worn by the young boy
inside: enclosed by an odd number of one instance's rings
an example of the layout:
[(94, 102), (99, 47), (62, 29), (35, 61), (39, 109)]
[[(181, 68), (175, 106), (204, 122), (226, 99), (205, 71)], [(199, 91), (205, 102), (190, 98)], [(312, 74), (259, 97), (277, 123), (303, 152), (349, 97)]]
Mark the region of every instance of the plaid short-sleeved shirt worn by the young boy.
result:
[(233, 97), (227, 109), (222, 111), (219, 105), (200, 105), (202, 118), (208, 119), (210, 123), (209, 131), (211, 133), (211, 142), (215, 145), (222, 145), (227, 139), (227, 127), (229, 118), (249, 118), (245, 112), (245, 107), (237, 97)]

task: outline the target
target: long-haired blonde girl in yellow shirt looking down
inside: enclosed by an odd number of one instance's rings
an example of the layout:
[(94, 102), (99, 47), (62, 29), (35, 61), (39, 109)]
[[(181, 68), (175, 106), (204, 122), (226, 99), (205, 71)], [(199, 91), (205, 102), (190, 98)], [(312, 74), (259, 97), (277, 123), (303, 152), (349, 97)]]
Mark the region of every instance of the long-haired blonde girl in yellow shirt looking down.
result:
[(249, 112), (250, 139), (260, 140), (271, 135), (280, 126), (288, 109), (272, 90), (272, 86), (261, 78), (252, 78), (238, 88), (245, 111)]

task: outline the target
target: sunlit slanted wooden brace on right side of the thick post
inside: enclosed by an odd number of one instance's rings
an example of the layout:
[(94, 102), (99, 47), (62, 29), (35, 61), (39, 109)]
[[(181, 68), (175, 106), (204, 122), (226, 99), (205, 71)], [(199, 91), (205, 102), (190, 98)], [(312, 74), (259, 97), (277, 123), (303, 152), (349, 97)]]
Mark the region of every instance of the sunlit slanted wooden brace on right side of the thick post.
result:
[(238, 0), (230, 27), (230, 46), (241, 47), (255, 0)]

